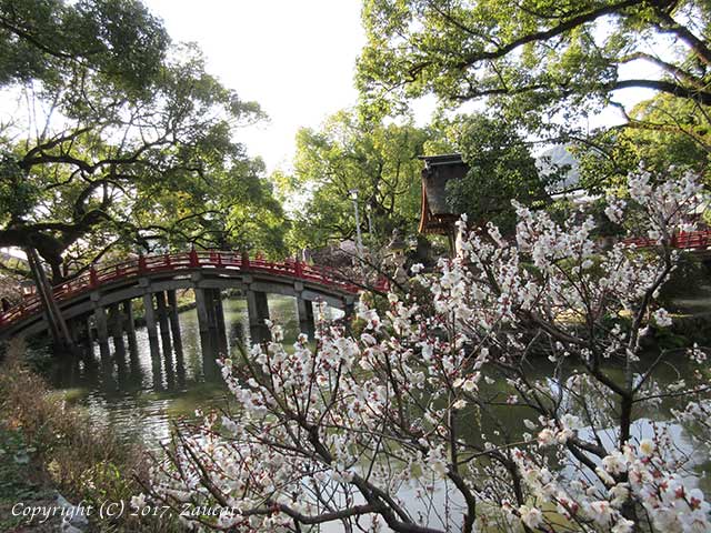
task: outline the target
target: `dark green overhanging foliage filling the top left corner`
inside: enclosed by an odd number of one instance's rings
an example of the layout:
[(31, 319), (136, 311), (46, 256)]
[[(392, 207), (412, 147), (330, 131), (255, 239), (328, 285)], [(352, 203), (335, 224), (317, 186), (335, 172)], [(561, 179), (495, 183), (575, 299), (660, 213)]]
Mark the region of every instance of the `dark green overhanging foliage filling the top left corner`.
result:
[(169, 43), (136, 0), (2, 0), (0, 16), (0, 86), (59, 87), (91, 70), (111, 86), (143, 91)]

